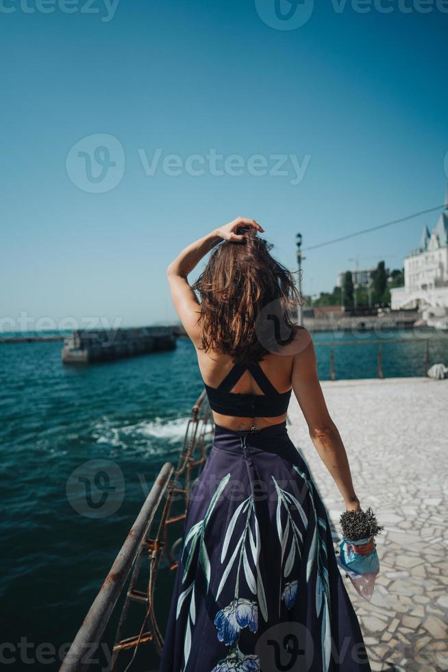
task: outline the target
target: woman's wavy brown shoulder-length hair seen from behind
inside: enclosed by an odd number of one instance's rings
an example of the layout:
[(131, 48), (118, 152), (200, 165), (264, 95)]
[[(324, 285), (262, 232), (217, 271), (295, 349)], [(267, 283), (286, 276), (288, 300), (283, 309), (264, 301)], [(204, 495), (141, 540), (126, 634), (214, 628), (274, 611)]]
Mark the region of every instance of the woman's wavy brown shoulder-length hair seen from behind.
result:
[(243, 241), (223, 241), (192, 288), (201, 298), (202, 347), (260, 361), (294, 337), (291, 309), (301, 304), (295, 276), (269, 253), (271, 243), (241, 227)]

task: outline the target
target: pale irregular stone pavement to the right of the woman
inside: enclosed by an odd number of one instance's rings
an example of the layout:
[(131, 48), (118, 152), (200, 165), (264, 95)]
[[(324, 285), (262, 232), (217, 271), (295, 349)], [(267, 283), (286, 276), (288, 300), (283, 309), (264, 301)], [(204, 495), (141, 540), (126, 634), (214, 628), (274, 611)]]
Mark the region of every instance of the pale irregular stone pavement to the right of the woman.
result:
[[(371, 602), (345, 577), (373, 671), (448, 669), (448, 381), (322, 383), (349, 456), (355, 491), (384, 530)], [(295, 400), (291, 439), (303, 453), (340, 540), (344, 502)], [(335, 547), (337, 549), (337, 547)]]

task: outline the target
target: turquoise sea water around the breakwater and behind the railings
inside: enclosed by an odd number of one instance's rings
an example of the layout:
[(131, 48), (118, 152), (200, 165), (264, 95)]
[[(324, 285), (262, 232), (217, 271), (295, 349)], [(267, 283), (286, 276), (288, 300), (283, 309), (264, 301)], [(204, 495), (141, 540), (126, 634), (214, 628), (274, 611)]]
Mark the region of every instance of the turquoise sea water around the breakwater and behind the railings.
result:
[[(319, 342), (332, 338), (314, 336), (321, 379), (329, 349)], [(2, 641), (15, 647), (21, 637), (34, 647), (73, 638), (145, 499), (142, 483), (175, 461), (202, 389), (186, 339), (171, 352), (84, 368), (64, 367), (61, 346), (0, 346)], [(430, 353), (448, 363), (447, 339), (432, 339)], [(375, 377), (376, 356), (373, 344), (338, 348), (336, 377)], [(384, 339), (385, 376), (421, 375), (424, 365), (423, 343)], [(79, 515), (66, 495), (72, 472), (92, 459), (115, 461), (124, 476), (123, 503), (104, 518)]]

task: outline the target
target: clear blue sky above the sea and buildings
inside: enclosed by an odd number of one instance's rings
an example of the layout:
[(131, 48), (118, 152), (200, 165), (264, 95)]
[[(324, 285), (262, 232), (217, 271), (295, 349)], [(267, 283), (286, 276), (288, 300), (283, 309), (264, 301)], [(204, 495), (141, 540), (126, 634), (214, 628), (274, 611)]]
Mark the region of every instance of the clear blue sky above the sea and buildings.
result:
[[(268, 25), (274, 0), (46, 2), (0, 10), (3, 328), (174, 320), (166, 265), (236, 215), (293, 268), (298, 231), (306, 248), (443, 202), (443, 0), (305, 0), (295, 29)], [(401, 267), (436, 218), (310, 251), (304, 290), (357, 255)]]

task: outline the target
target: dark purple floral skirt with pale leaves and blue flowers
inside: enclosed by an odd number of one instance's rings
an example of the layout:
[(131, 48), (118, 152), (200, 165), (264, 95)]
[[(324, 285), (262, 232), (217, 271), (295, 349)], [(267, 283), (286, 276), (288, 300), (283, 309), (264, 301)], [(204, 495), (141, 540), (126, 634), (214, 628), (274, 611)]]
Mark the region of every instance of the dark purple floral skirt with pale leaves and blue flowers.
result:
[(286, 422), (215, 426), (160, 672), (370, 672), (326, 509)]

